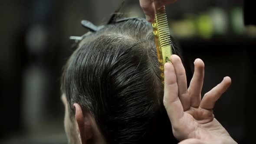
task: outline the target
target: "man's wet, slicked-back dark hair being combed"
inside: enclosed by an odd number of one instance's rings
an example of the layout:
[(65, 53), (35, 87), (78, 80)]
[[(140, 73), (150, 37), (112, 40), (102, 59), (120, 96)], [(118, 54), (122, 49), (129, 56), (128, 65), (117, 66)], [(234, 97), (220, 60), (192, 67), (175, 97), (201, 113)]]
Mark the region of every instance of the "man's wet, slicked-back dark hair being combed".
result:
[(177, 143), (159, 75), (151, 24), (130, 19), (82, 39), (66, 63), (62, 92), (72, 115), (75, 102), (90, 111), (107, 143)]

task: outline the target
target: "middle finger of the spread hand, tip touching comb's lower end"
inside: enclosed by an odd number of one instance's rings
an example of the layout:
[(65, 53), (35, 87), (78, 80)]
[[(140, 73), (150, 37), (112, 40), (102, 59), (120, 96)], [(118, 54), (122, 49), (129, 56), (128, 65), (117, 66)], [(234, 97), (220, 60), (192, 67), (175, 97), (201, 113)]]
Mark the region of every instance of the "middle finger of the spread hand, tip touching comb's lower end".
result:
[(186, 72), (181, 62), (181, 58), (179, 56), (172, 55), (171, 62), (174, 65), (174, 69), (177, 77), (179, 98), (181, 100), (181, 104), (183, 106), (184, 111), (187, 111), (190, 108), (190, 97), (187, 91)]

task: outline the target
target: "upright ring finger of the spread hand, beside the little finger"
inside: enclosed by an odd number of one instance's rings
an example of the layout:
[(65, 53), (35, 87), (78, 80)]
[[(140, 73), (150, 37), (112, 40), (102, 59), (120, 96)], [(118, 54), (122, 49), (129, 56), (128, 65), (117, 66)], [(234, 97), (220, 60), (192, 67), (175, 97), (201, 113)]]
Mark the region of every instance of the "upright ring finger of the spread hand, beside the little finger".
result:
[(191, 107), (198, 108), (201, 102), (201, 91), (203, 87), (204, 77), (204, 63), (201, 59), (196, 59), (194, 65), (194, 75), (190, 81), (188, 92), (190, 95)]

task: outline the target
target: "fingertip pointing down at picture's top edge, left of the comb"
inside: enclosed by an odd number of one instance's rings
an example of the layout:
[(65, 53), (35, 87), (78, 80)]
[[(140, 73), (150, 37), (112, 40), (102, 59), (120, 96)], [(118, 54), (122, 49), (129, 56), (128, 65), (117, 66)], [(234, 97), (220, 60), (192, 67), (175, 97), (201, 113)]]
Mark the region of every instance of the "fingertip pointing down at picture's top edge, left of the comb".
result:
[(140, 6), (146, 15), (146, 20), (152, 22), (155, 16), (154, 0), (140, 0)]

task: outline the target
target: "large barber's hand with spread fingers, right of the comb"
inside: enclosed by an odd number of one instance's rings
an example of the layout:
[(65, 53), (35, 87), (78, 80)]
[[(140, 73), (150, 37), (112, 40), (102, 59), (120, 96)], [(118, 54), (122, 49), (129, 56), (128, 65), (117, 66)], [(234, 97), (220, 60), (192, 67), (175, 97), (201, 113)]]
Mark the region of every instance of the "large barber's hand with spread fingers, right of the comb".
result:
[(225, 77), (201, 100), (203, 61), (195, 60), (194, 75), (188, 89), (181, 59), (173, 55), (171, 62), (164, 65), (164, 106), (174, 137), (181, 141), (180, 144), (236, 144), (213, 115), (215, 102), (231, 84), (230, 77)]

